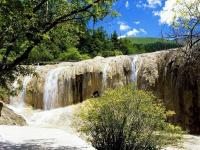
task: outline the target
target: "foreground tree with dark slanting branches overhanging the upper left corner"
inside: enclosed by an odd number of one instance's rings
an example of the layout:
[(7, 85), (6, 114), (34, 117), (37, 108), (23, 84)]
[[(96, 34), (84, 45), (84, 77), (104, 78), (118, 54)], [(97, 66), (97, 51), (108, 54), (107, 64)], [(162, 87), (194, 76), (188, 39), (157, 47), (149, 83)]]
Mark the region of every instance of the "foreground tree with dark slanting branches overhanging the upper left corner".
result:
[(31, 51), (63, 24), (68, 29), (112, 12), (116, 0), (3, 0), (0, 2), (0, 85), (26, 74)]

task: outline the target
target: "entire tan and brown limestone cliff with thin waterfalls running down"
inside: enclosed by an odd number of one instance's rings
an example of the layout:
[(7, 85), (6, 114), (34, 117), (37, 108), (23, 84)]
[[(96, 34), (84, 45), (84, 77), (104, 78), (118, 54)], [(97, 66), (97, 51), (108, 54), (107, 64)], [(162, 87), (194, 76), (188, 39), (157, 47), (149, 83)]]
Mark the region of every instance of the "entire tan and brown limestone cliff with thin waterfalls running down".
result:
[(138, 88), (153, 91), (175, 111), (171, 121), (200, 133), (200, 67), (188, 65), (183, 55), (182, 50), (171, 49), (38, 66), (37, 76), (24, 79), (21, 96), (34, 108), (49, 110), (137, 81)]

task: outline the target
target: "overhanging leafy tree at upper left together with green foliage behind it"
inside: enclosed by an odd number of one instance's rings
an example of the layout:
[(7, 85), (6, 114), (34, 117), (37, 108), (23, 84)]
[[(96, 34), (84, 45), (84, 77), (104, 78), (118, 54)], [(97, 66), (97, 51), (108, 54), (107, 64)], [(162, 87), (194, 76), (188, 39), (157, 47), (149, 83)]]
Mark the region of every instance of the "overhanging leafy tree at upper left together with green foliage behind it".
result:
[[(0, 86), (26, 75), (22, 64), (57, 60), (91, 19), (114, 15), (116, 0), (3, 0), (0, 1)], [(81, 59), (79, 53), (67, 59)], [(28, 59), (30, 56), (30, 59)], [(64, 59), (64, 58), (63, 58)]]

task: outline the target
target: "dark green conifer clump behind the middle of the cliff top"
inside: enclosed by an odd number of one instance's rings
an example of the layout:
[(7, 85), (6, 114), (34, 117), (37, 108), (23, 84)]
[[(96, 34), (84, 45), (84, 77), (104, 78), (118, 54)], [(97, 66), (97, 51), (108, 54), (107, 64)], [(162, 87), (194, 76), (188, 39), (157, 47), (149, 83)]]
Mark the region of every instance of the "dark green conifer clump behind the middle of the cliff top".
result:
[(81, 53), (87, 53), (90, 57), (126, 54), (126, 47), (118, 39), (117, 33), (114, 31), (109, 37), (102, 27), (96, 30), (86, 30), (77, 47)]

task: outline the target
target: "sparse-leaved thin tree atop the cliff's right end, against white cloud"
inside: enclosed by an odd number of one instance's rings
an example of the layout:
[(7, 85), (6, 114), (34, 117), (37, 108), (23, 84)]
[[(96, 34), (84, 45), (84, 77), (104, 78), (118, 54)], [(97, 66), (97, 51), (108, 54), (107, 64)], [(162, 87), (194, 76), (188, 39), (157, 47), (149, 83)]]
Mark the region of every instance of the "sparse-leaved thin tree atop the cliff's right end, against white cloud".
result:
[[(200, 1), (167, 0), (160, 12), (160, 22), (172, 27), (169, 38), (183, 42), (185, 67), (198, 70), (200, 65)], [(187, 72), (187, 71), (186, 71)]]

